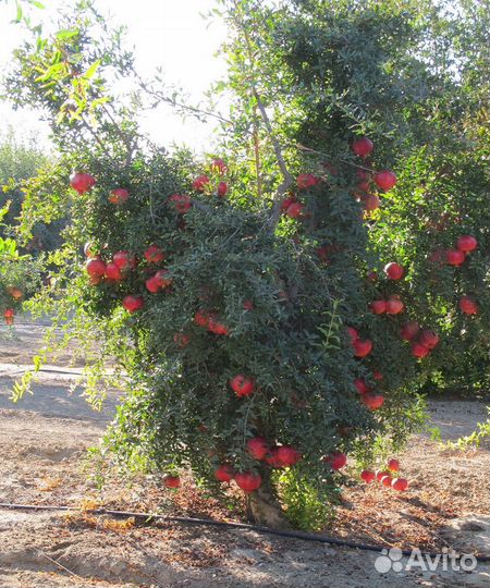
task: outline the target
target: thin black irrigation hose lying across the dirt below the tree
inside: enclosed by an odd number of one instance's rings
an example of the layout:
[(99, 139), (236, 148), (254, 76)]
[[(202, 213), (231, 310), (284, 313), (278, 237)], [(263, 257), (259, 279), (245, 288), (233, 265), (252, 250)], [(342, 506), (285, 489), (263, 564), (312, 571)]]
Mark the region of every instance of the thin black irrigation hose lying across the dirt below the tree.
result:
[[(8, 502), (0, 502), (0, 509), (9, 509), (15, 511), (62, 511), (62, 512), (81, 512), (81, 509), (75, 506), (54, 506), (54, 505), (36, 505), (36, 504), (11, 504)], [(110, 515), (119, 518), (137, 518), (149, 523), (150, 520), (163, 520), (168, 523), (183, 523), (188, 525), (209, 525), (215, 527), (234, 528), (253, 530), (256, 532), (278, 535), (279, 537), (289, 537), (293, 539), (303, 539), (305, 541), (318, 541), (320, 543), (331, 543), (333, 546), (348, 547), (354, 549), (360, 549), (364, 551), (381, 551), (382, 549), (389, 549), (388, 546), (372, 546), (366, 543), (357, 543), (355, 541), (345, 541), (343, 539), (335, 539), (334, 537), (327, 537), (324, 535), (314, 535), (310, 532), (293, 531), (273, 529), (271, 527), (262, 527), (260, 525), (247, 525), (246, 523), (226, 523), (223, 520), (213, 520), (211, 518), (191, 518), (185, 516), (167, 516), (156, 515), (151, 513), (132, 513), (128, 511), (112, 511), (106, 509), (87, 509), (83, 510), (84, 513), (93, 515)], [(415, 548), (414, 548), (415, 549)], [(419, 549), (419, 548), (417, 548)], [(403, 555), (412, 555), (413, 550), (402, 550)], [(421, 551), (422, 555), (429, 555), (430, 558), (437, 558), (439, 553)], [(458, 554), (455, 555), (456, 558)], [(490, 562), (490, 555), (475, 555), (477, 562)]]

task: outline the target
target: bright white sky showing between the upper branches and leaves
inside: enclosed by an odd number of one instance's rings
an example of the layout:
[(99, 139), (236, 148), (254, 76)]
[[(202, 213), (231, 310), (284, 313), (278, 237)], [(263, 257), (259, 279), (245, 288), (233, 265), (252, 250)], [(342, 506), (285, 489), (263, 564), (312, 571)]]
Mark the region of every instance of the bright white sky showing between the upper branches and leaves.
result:
[[(32, 11), (33, 20), (52, 22), (62, 0), (42, 0), (45, 10)], [(224, 25), (206, 21), (201, 13), (215, 7), (215, 0), (95, 0), (102, 14), (110, 15), (114, 24), (127, 26), (126, 47), (133, 48), (136, 70), (151, 77), (161, 66), (169, 84), (182, 87), (193, 102), (204, 98), (212, 82), (224, 74), (222, 59), (215, 57), (225, 39)], [(0, 3), (0, 72), (8, 71), (12, 50), (22, 42), (23, 30), (11, 21), (15, 16), (14, 2)], [(49, 146), (49, 128), (33, 111), (14, 112), (0, 102), (0, 134), (12, 125), (20, 138), (33, 133), (38, 142)], [(209, 144), (212, 124), (194, 119), (183, 122), (169, 106), (161, 106), (140, 118), (142, 128), (160, 145), (187, 144), (200, 151)]]

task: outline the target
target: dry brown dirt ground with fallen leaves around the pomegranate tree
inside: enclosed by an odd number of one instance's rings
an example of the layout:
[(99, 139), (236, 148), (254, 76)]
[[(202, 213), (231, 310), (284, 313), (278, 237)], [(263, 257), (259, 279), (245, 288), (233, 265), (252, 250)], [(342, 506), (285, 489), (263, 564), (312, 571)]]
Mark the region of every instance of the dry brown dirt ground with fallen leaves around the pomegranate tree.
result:
[[(2, 328), (4, 329), (4, 328)], [(191, 480), (163, 491), (155, 480), (131, 486), (109, 480), (100, 490), (87, 477), (86, 449), (98, 444), (118, 403), (110, 395), (94, 413), (68, 388), (77, 369), (41, 373), (35, 394), (13, 405), (13, 378), (28, 365), (42, 329), (0, 331), (0, 502), (68, 504), (75, 513), (27, 512), (0, 506), (0, 588), (51, 587), (458, 587), (490, 586), (490, 564), (473, 572), (380, 573), (379, 552), (260, 535), (252, 530), (140, 525), (93, 516), (84, 507), (151, 511), (240, 520), (207, 500)], [(57, 360), (69, 365), (70, 354)], [(68, 373), (66, 373), (68, 371)], [(431, 427), (442, 440), (471, 432), (487, 418), (477, 402), (432, 402)], [(411, 488), (400, 494), (381, 485), (346, 488), (324, 534), (383, 546), (490, 555), (490, 450), (448, 450), (429, 434), (415, 436), (397, 456)]]

